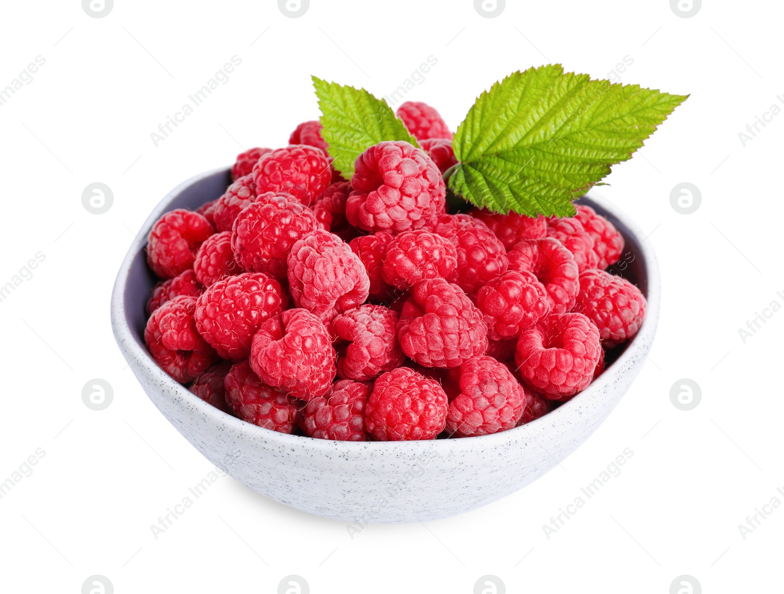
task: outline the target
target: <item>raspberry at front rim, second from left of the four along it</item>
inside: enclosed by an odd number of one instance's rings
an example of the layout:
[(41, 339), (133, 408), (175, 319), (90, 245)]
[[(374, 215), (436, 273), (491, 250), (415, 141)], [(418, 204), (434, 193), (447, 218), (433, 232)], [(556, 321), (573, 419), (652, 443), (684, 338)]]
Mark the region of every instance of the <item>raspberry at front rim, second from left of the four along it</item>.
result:
[(299, 426), (305, 435), (316, 439), (367, 441), (365, 405), (371, 386), (359, 381), (336, 381), (329, 392), (307, 403)]

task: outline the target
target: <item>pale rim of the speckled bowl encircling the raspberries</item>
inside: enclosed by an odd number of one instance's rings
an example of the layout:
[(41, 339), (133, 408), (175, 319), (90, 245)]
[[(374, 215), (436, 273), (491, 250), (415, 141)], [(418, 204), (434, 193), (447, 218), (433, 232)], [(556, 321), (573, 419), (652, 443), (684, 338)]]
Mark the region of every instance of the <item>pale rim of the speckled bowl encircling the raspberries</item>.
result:
[[(648, 302), (648, 305), (642, 326), (640, 327), (640, 330), (637, 331), (637, 335), (632, 339), (632, 341), (630, 341), (629, 346), (624, 349), (624, 351), (619, 355), (618, 359), (615, 359), (612, 365), (608, 366), (607, 370), (605, 370), (600, 377), (592, 381), (585, 390), (579, 392), (579, 394), (575, 395), (574, 398), (561, 404), (561, 406), (558, 406), (557, 409), (551, 410), (549, 413), (543, 415), (543, 417), (539, 417), (534, 421), (526, 423), (525, 425), (520, 425), (518, 427), (502, 432), (492, 433), (490, 435), (477, 435), (473, 437), (461, 437), (453, 439), (426, 439), (421, 441), (387, 442), (336, 441), (332, 439), (316, 439), (314, 437), (308, 437), (307, 435), (289, 435), (287, 433), (276, 432), (272, 429), (252, 425), (247, 421), (242, 421), (238, 417), (224, 413), (222, 410), (219, 410), (215, 406), (212, 406), (211, 404), (198, 398), (197, 395), (190, 392), (183, 384), (180, 384), (172, 377), (169, 377), (169, 374), (166, 374), (165, 371), (162, 370), (157, 363), (155, 363), (154, 359), (152, 359), (152, 356), (149, 352), (147, 352), (146, 348), (141, 348), (140, 353), (133, 355), (132, 349), (130, 347), (126, 348), (124, 346), (124, 344), (137, 344), (136, 338), (133, 336), (128, 319), (125, 315), (124, 296), (125, 286), (129, 277), (132, 262), (136, 258), (136, 254), (139, 253), (139, 250), (143, 249), (147, 243), (146, 239), (143, 241), (140, 239), (140, 237), (147, 237), (147, 233), (152, 227), (152, 224), (154, 224), (154, 222), (158, 220), (158, 218), (160, 218), (163, 213), (171, 210), (169, 209), (169, 203), (176, 199), (185, 188), (190, 187), (191, 185), (202, 179), (205, 179), (206, 177), (210, 177), (222, 172), (227, 173), (229, 170), (230, 167), (218, 167), (216, 169), (210, 169), (209, 171), (199, 173), (198, 175), (184, 180), (181, 184), (178, 184), (175, 188), (173, 188), (172, 191), (169, 191), (169, 193), (166, 194), (160, 202), (158, 202), (158, 205), (155, 206), (147, 219), (144, 220), (140, 231), (136, 234), (136, 238), (129, 247), (128, 253), (125, 254), (125, 258), (122, 261), (117, 278), (114, 281), (114, 287), (111, 294), (111, 323), (115, 341), (117, 341), (118, 347), (120, 348), (125, 359), (129, 361), (129, 367), (133, 366), (134, 364), (143, 366), (143, 369), (147, 372), (147, 374), (152, 374), (158, 379), (158, 381), (167, 384), (169, 391), (184, 399), (187, 403), (187, 406), (194, 407), (199, 414), (208, 417), (210, 423), (216, 428), (220, 427), (220, 425), (228, 425), (231, 429), (237, 432), (238, 437), (241, 438), (244, 443), (249, 443), (252, 440), (257, 439), (256, 443), (258, 445), (260, 445), (262, 442), (271, 442), (278, 446), (307, 446), (310, 449), (315, 448), (316, 450), (323, 450), (325, 453), (328, 452), (329, 454), (339, 454), (341, 452), (352, 454), (368, 449), (392, 450), (393, 453), (397, 452), (401, 454), (416, 454), (416, 452), (423, 447), (422, 444), (428, 447), (428, 449), (430, 446), (434, 446), (438, 450), (450, 450), (454, 448), (462, 449), (463, 447), (469, 446), (470, 444), (476, 444), (477, 446), (483, 447), (493, 447), (502, 445), (503, 443), (508, 443), (510, 441), (530, 439), (532, 435), (530, 434), (529, 429), (543, 428), (543, 426), (546, 424), (556, 425), (560, 422), (568, 422), (568, 417), (572, 417), (574, 415), (579, 416), (580, 409), (583, 406), (582, 403), (586, 401), (586, 399), (589, 399), (592, 395), (601, 394), (604, 388), (608, 387), (608, 384), (611, 384), (613, 381), (615, 381), (615, 377), (618, 375), (619, 370), (624, 367), (622, 363), (630, 363), (629, 359), (633, 357), (633, 352), (635, 350), (640, 350), (639, 348), (635, 349), (635, 347), (637, 347), (637, 344), (635, 343), (644, 339), (649, 340), (650, 342), (653, 341), (656, 325), (659, 319), (661, 279), (659, 276), (659, 264), (656, 260), (653, 247), (651, 246), (650, 242), (646, 242), (648, 235), (644, 235), (644, 232), (637, 226), (634, 220), (632, 220), (618, 206), (615, 206), (614, 203), (610, 202), (608, 199), (605, 199), (601, 195), (597, 195), (595, 192), (588, 191), (584, 196), (587, 199), (590, 199), (591, 202), (595, 202), (597, 205), (601, 206), (602, 210), (608, 214), (611, 214), (612, 217), (615, 217), (616, 220), (622, 222), (623, 226), (626, 228), (629, 234), (633, 235), (637, 239), (637, 242), (639, 242), (641, 248), (640, 255), (643, 257), (647, 273), (648, 295), (646, 296), (646, 301)], [(647, 356), (647, 351), (645, 349), (643, 349), (642, 352)], [(642, 363), (639, 364), (641, 365)], [(613, 368), (616, 370), (615, 373), (613, 373)], [(169, 398), (175, 398), (175, 396), (172, 395), (169, 396)]]

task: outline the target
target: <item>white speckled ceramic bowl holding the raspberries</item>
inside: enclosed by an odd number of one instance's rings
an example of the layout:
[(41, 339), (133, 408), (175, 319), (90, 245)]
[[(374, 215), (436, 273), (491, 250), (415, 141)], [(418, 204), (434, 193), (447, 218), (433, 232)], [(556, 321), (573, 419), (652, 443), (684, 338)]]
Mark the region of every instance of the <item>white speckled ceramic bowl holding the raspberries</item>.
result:
[[(202, 173), (175, 188), (144, 222), (216, 199), (229, 169)], [(648, 298), (631, 344), (589, 388), (550, 414), (510, 431), (465, 439), (350, 443), (284, 435), (222, 413), (172, 380), (144, 345), (144, 308), (155, 279), (137, 240), (122, 262), (111, 297), (114, 337), (158, 410), (209, 461), (285, 505), (361, 523), (445, 518), (514, 493), (564, 460), (615, 408), (643, 366), (659, 319), (659, 268), (650, 243), (624, 213), (597, 196), (582, 202), (604, 214), (626, 239), (622, 274)], [(359, 528), (359, 527), (358, 527)]]

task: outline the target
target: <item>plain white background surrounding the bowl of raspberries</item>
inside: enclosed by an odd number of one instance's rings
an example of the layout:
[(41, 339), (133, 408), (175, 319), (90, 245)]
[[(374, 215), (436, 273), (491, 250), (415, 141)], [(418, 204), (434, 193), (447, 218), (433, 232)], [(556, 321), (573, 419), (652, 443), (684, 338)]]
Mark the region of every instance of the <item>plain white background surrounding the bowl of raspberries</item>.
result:
[[(703, 592), (781, 591), (784, 506), (746, 539), (738, 525), (784, 489), (784, 312), (739, 337), (784, 304), (784, 115), (739, 140), (784, 96), (782, 5), (706, 1), (684, 19), (668, 0), (506, 4), (492, 19), (470, 0), (311, 0), (296, 19), (273, 0), (116, 0), (100, 19), (78, 0), (3, 4), (0, 88), (46, 60), (0, 107), (0, 284), (45, 254), (0, 303), (0, 481), (45, 451), (0, 499), (3, 591), (76, 593), (92, 574), (118, 594), (277, 592), (287, 574), (314, 594), (473, 592), (484, 574), (507, 592), (666, 594), (681, 574)], [(234, 55), (230, 81), (156, 148), (150, 133)], [(630, 56), (623, 82), (691, 93), (599, 188), (659, 256), (662, 316), (640, 377), (560, 467), (463, 516), (352, 540), (226, 477), (155, 540), (150, 525), (211, 466), (114, 344), (109, 297), (133, 234), (180, 181), (317, 118), (311, 74), (381, 96), (431, 55), (407, 98), (452, 129), (496, 79), (548, 62), (606, 78)], [(94, 181), (114, 192), (102, 215), (82, 206)], [(689, 215), (670, 206), (683, 181), (702, 193)], [(107, 410), (82, 403), (93, 377), (114, 388)], [(702, 388), (688, 412), (670, 403), (683, 377)], [(626, 447), (620, 476), (548, 540), (542, 525)]]

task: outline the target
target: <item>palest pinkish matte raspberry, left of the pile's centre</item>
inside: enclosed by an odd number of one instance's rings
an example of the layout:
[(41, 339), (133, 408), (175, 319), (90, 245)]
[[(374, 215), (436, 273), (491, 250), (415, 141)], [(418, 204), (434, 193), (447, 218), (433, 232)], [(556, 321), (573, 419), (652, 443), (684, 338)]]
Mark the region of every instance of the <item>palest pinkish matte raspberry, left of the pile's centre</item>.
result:
[(322, 322), (365, 303), (370, 279), (347, 243), (329, 231), (313, 231), (289, 252), (289, 291), (298, 308)]

